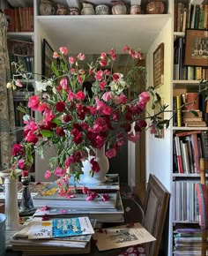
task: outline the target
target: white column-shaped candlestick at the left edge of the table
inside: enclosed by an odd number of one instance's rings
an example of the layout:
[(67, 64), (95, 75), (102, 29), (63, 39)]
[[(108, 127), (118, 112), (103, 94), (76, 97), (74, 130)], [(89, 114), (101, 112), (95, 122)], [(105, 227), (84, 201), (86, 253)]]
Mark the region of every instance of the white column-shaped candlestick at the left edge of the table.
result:
[(6, 230), (19, 230), (19, 205), (18, 205), (18, 177), (21, 169), (15, 169), (15, 177), (11, 177), (11, 169), (0, 171), (0, 177), (4, 178), (5, 185), (5, 211)]

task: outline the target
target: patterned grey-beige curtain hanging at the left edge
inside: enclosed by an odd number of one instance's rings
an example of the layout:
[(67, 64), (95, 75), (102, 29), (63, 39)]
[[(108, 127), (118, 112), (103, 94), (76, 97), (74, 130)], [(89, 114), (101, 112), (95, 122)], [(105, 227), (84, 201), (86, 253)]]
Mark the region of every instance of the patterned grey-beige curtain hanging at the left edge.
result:
[(11, 80), (7, 26), (7, 19), (0, 12), (0, 169), (10, 168), (11, 147), (16, 140), (13, 96), (6, 87)]

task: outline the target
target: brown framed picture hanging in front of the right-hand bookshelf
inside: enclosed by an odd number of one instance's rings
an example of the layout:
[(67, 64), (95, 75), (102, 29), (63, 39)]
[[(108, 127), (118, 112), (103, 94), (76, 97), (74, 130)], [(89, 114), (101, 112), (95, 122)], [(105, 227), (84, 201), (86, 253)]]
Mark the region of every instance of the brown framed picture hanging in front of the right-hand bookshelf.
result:
[(189, 66), (207, 66), (208, 30), (186, 29), (184, 64)]

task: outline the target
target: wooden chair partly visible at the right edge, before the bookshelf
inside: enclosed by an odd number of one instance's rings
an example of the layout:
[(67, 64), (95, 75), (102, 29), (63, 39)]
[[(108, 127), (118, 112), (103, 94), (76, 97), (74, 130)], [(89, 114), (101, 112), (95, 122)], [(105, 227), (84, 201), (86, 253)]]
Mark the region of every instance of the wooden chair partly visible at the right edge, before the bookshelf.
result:
[(199, 224), (202, 230), (201, 256), (206, 256), (208, 248), (208, 185), (206, 184), (205, 170), (208, 169), (208, 158), (200, 158), (200, 184), (197, 184), (197, 199), (199, 206)]

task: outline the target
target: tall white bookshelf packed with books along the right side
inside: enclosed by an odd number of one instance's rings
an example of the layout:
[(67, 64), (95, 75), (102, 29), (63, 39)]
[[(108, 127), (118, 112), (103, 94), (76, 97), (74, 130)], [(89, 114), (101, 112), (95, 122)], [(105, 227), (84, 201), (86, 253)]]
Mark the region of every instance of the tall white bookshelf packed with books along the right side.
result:
[[(174, 34), (173, 34), (173, 80), (172, 80), (172, 96), (173, 96), (173, 109), (179, 107), (175, 105), (175, 96), (181, 97), (182, 95), (197, 93), (199, 82), (201, 79), (207, 80), (207, 67), (203, 66), (188, 66), (184, 65), (184, 52), (185, 52), (185, 36), (186, 29), (207, 29), (206, 20), (204, 16), (207, 17), (207, 3), (205, 1), (175, 1), (174, 4)], [(206, 14), (205, 14), (206, 12)], [(188, 16), (187, 16), (188, 15)], [(203, 19), (203, 20), (202, 20)], [(192, 21), (191, 21), (192, 20)], [(184, 23), (185, 22), (185, 23)], [(183, 27), (180, 24), (183, 23)], [(188, 105), (189, 106), (189, 105)], [(193, 105), (193, 108), (196, 105)], [(188, 107), (189, 108), (189, 107)], [(183, 108), (184, 109), (184, 108)], [(175, 122), (173, 120), (172, 131), (170, 132), (173, 138), (177, 137), (177, 134), (184, 134), (184, 136), (179, 137), (181, 146), (181, 157), (182, 157), (182, 173), (177, 169), (178, 155), (175, 156), (175, 139), (173, 139), (172, 147), (170, 147), (171, 152), (173, 152), (173, 167), (172, 167), (172, 200), (171, 200), (171, 211), (172, 216), (170, 218), (170, 225), (173, 230), (172, 252), (176, 253), (178, 250), (183, 250), (184, 255), (186, 255), (186, 250), (181, 245), (176, 245), (175, 241), (175, 230), (180, 228), (195, 228), (198, 229), (199, 215), (197, 206), (197, 191), (196, 184), (199, 182), (199, 169), (197, 168), (199, 157), (206, 156), (204, 153), (204, 147), (207, 148), (207, 142), (205, 144), (204, 139), (202, 139), (202, 134), (207, 135), (207, 109), (206, 104), (203, 99), (199, 98), (197, 104), (198, 117), (193, 117), (192, 121), (200, 120), (198, 125), (194, 123), (193, 127), (186, 127), (187, 119), (185, 118), (185, 112), (180, 111), (181, 122)], [(202, 112), (202, 115), (200, 114)], [(199, 117), (200, 116), (200, 117)], [(202, 116), (202, 117), (201, 117)], [(203, 120), (203, 121), (202, 121)], [(203, 122), (205, 124), (203, 124)], [(204, 125), (204, 127), (203, 127)], [(198, 132), (196, 135), (196, 142), (193, 142), (194, 132)], [(188, 139), (188, 140), (187, 140)], [(191, 140), (192, 139), (192, 140)], [(185, 147), (185, 146), (187, 147)], [(207, 149), (206, 149), (207, 150)], [(177, 151), (177, 150), (176, 150)], [(191, 159), (192, 158), (192, 159)], [(186, 161), (187, 160), (187, 161)], [(172, 221), (172, 223), (171, 223)], [(190, 238), (190, 237), (189, 237)], [(188, 238), (188, 239), (189, 239)], [(171, 237), (170, 237), (171, 241)], [(184, 244), (183, 244), (184, 246)], [(182, 249), (183, 248), (183, 249)], [(191, 249), (189, 248), (191, 251)], [(190, 252), (189, 251), (189, 252)], [(200, 252), (199, 252), (200, 254)]]

